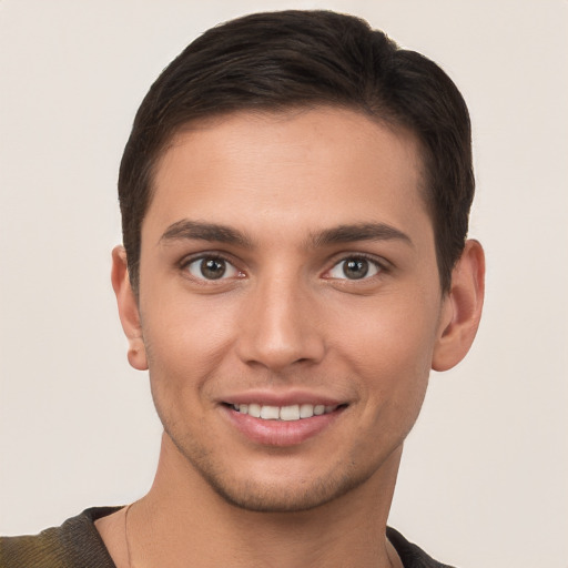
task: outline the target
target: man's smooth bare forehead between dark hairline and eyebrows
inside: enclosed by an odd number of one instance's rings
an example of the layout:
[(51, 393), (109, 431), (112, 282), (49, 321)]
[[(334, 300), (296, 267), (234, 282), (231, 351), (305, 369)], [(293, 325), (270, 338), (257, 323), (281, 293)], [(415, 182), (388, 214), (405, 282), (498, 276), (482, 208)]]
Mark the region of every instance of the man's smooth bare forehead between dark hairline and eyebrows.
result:
[(143, 230), (184, 216), (251, 230), (255, 215), (297, 229), (412, 224), (426, 215), (422, 171), (413, 134), (356, 111), (235, 112), (173, 138), (155, 169)]

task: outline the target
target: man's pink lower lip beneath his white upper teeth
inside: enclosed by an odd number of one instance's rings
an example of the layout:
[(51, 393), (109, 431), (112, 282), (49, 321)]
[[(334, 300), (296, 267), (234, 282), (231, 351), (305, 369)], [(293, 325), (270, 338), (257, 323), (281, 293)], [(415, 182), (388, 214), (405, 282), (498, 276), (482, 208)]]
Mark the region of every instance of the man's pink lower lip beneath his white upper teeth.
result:
[(241, 414), (230, 406), (223, 409), (236, 429), (250, 440), (265, 446), (295, 446), (328, 428), (345, 407), (300, 420), (265, 420)]

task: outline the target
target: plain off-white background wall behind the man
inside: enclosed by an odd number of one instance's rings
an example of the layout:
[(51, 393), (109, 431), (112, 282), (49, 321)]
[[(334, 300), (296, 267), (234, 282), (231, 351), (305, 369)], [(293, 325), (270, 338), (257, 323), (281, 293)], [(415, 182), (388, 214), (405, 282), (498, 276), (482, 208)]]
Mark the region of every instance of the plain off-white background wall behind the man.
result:
[(109, 280), (150, 83), (235, 16), (329, 8), (438, 62), (474, 124), (485, 317), (433, 374), (390, 524), (462, 568), (568, 566), (568, 2), (0, 1), (0, 532), (149, 488), (160, 424)]

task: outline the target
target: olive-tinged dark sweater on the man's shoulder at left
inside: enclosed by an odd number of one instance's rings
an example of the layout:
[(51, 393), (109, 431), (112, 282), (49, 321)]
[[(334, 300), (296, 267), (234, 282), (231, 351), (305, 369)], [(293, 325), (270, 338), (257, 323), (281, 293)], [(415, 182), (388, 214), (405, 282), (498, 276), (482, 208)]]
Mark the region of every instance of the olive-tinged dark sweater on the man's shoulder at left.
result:
[(87, 509), (39, 535), (0, 538), (0, 568), (115, 568), (94, 520), (115, 507)]

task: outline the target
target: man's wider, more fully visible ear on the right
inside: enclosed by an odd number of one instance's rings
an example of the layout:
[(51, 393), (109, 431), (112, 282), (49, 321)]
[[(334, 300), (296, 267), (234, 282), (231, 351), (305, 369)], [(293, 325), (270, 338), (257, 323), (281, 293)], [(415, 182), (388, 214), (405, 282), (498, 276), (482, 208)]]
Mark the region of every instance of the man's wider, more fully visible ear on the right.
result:
[(447, 371), (466, 356), (479, 326), (484, 294), (484, 250), (477, 241), (469, 240), (452, 272), (450, 291), (444, 298), (432, 359), (434, 371)]

